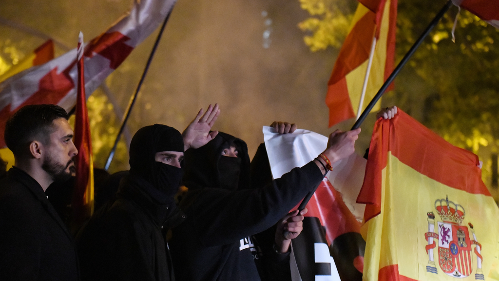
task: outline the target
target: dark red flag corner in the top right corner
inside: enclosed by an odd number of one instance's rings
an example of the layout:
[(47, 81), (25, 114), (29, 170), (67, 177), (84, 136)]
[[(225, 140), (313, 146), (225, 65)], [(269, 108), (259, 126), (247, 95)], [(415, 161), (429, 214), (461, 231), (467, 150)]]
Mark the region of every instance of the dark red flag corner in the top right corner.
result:
[(452, 0), (452, 2), (499, 28), (499, 0)]

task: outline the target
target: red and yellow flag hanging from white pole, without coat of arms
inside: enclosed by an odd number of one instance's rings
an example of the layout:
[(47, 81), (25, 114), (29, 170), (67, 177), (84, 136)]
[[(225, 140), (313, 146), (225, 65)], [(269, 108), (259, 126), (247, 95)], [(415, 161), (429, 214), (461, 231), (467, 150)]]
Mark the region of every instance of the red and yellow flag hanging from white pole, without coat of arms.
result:
[[(369, 104), (394, 68), (397, 0), (359, 2), (327, 83), (329, 126), (357, 114), (373, 36), (377, 42), (362, 109)], [(378, 109), (379, 103), (373, 110)]]

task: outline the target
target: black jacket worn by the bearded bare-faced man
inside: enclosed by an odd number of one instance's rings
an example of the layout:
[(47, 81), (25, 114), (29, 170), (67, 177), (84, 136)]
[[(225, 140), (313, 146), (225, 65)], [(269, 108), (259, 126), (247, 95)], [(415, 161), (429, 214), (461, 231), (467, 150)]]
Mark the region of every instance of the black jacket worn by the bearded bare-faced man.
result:
[(0, 181), (0, 280), (78, 280), (73, 239), (30, 175), (12, 167)]

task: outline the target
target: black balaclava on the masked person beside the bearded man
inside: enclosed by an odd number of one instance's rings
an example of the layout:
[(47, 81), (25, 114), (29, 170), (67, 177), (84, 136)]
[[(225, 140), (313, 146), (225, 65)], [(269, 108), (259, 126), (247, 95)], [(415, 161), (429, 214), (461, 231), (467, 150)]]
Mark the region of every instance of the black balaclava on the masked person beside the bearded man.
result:
[(184, 152), (182, 134), (175, 128), (161, 124), (139, 129), (130, 142), (130, 173), (160, 191), (149, 190), (148, 193), (154, 193), (150, 195), (161, 201), (172, 201), (180, 186), (183, 169), (156, 162), (156, 152), (161, 151)]

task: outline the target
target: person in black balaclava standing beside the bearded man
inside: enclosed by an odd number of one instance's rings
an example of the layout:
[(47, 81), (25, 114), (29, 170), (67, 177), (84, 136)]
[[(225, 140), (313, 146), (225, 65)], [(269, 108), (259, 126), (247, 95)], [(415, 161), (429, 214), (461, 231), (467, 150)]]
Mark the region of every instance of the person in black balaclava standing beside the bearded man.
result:
[(183, 154), (175, 128), (155, 124), (135, 133), (117, 199), (78, 233), (82, 280), (174, 279), (165, 233), (185, 219), (174, 202)]

